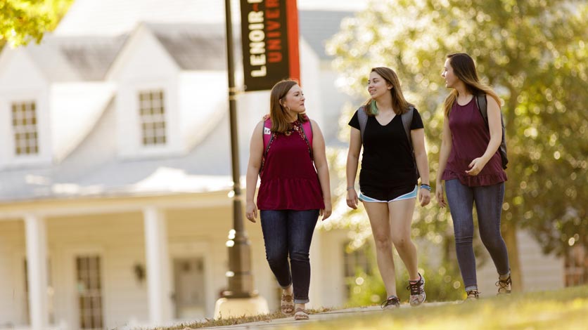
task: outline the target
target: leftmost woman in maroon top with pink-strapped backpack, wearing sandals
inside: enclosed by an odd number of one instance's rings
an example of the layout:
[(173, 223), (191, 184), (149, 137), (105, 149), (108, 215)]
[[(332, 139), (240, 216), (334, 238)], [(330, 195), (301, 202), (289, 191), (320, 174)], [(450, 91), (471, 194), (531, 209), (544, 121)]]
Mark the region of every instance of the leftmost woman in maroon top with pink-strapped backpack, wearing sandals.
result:
[[(245, 216), (255, 223), (260, 209), (266, 258), (283, 289), (281, 311), (308, 319), (312, 233), (319, 215), (323, 220), (331, 216), (325, 143), (317, 123), (305, 114), (305, 97), (296, 81), (274, 85), (269, 106), (271, 128), (261, 121), (251, 137)], [(310, 132), (303, 127), (307, 121)], [(267, 147), (264, 133), (272, 135)]]

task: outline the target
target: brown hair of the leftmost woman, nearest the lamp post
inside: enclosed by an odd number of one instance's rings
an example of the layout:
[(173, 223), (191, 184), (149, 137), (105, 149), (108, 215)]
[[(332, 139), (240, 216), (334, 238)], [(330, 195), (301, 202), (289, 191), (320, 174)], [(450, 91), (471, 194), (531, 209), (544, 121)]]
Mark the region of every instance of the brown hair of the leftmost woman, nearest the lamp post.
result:
[[(271, 131), (275, 133), (286, 133), (292, 128), (292, 124), (288, 121), (286, 109), (281, 105), (281, 100), (286, 97), (286, 94), (293, 86), (298, 85), (298, 81), (292, 79), (284, 79), (278, 81), (274, 87), (271, 88), (269, 94), (269, 118), (271, 118)], [(305, 112), (298, 114), (298, 121), (304, 123), (308, 120)]]

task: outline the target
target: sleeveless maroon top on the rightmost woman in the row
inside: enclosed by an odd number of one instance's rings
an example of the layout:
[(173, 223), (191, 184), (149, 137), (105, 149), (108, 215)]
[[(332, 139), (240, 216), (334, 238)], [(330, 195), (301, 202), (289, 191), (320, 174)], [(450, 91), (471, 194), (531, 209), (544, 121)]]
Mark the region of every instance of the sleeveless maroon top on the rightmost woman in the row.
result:
[(490, 143), (490, 130), (474, 98), (466, 105), (454, 103), (449, 112), (449, 130), (452, 133), (452, 151), (449, 153), (442, 180), (459, 179), (462, 185), (468, 187), (495, 185), (506, 181), (506, 172), (502, 169), (498, 150), (477, 176), (468, 176), (466, 173), (471, 161), (481, 157)]

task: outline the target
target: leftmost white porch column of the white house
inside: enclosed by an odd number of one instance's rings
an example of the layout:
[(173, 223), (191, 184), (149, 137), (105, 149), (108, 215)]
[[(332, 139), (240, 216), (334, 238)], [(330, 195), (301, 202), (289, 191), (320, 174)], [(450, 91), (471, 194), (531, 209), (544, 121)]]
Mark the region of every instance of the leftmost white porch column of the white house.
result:
[(49, 325), (45, 219), (34, 215), (25, 216), (25, 235), (27, 242), (30, 325), (33, 330), (44, 330)]

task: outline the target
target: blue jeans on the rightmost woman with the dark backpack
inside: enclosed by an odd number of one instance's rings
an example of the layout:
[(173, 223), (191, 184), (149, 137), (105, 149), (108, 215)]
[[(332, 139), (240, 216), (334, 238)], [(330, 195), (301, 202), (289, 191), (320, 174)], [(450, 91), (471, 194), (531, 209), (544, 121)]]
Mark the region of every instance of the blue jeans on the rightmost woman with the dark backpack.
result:
[(447, 203), (453, 218), (455, 250), (466, 291), (478, 289), (473, 254), (473, 203), (478, 214), (480, 239), (490, 253), (499, 275), (509, 274), (509, 253), (500, 234), (504, 183), (468, 187), (459, 180), (446, 180)]

